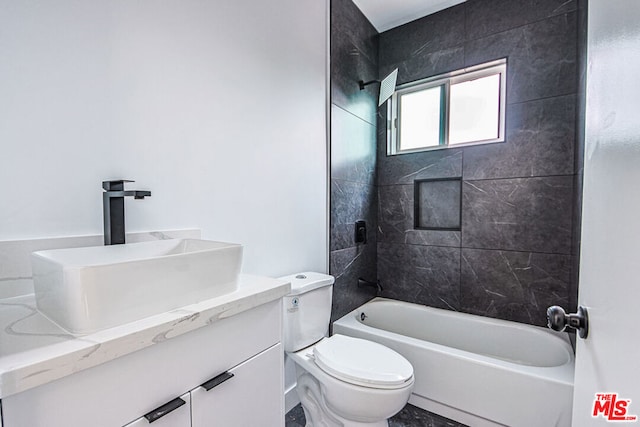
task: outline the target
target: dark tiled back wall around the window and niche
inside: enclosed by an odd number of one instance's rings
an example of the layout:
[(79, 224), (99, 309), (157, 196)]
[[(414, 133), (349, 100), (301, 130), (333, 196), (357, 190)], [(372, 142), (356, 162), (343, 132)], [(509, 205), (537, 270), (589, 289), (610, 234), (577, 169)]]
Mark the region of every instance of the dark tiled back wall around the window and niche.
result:
[[(379, 111), (383, 295), (535, 325), (571, 306), (582, 21), (577, 0), (468, 0), (380, 34), (379, 74), (398, 67), (399, 84), (508, 63), (504, 143), (387, 156)], [(414, 180), (450, 177), (463, 180), (461, 231), (414, 230)]]

